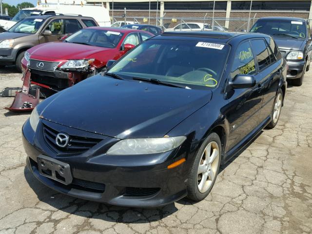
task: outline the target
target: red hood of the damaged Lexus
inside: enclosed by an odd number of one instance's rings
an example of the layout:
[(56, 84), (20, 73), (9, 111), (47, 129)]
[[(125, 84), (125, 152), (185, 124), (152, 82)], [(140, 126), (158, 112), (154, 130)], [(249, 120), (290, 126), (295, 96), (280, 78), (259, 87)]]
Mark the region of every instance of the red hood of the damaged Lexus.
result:
[[(91, 45), (82, 45), (66, 42), (50, 42), (37, 45), (28, 50), (34, 59), (84, 59), (98, 53), (111, 50)], [(48, 59), (47, 59), (48, 58)], [(50, 58), (50, 59), (49, 59)], [(52, 60), (53, 60), (52, 59)]]

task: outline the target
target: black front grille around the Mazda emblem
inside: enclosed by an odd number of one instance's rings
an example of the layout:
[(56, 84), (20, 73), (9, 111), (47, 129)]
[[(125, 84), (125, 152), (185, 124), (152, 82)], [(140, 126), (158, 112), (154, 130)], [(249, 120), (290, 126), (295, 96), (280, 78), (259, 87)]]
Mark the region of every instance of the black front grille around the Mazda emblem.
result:
[(47, 126), (46, 124), (42, 123), (43, 127), (43, 137), (46, 143), (52, 147), (52, 149), (56, 150), (58, 153), (65, 153), (65, 154), (77, 154), (83, 153), (89, 150), (91, 147), (95, 146), (100, 142), (102, 139), (100, 138), (90, 138), (90, 137), (79, 137), (69, 135), (69, 144), (67, 147), (62, 148), (59, 147), (55, 140), (58, 135), (58, 131)]

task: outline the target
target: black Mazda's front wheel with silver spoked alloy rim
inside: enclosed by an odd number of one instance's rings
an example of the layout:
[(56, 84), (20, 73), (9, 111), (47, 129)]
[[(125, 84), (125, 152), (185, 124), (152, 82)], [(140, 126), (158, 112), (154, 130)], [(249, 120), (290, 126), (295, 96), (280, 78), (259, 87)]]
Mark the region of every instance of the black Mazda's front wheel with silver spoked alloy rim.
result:
[[(207, 150), (209, 148), (211, 150)], [(211, 133), (204, 140), (195, 156), (195, 160), (187, 181), (189, 199), (200, 201), (210, 193), (219, 172), (221, 152), (222, 149), (219, 136), (216, 133)], [(207, 160), (208, 154), (210, 156), (214, 155), (214, 160)], [(202, 166), (200, 167), (200, 165)], [(200, 171), (203, 171), (203, 173), (200, 173)], [(206, 180), (204, 176), (206, 176)]]

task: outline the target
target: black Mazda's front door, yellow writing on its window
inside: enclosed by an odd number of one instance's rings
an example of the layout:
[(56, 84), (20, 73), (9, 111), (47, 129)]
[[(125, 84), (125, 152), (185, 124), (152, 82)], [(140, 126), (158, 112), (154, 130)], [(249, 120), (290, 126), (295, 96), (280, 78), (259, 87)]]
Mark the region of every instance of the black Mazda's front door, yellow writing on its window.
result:
[(227, 150), (237, 145), (258, 125), (262, 94), (261, 77), (257, 74), (258, 68), (255, 59), (250, 41), (241, 42), (234, 54), (229, 79), (234, 79), (238, 74), (253, 75), (256, 79), (256, 85), (246, 89), (234, 89), (233, 95), (229, 98), (231, 109), (226, 114), (230, 124)]

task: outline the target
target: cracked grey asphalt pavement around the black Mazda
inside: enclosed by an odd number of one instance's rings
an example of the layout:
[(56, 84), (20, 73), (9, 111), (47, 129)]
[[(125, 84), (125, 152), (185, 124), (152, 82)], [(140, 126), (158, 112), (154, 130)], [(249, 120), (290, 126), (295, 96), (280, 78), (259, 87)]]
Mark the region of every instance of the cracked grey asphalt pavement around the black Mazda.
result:
[[(13, 67), (0, 90), (21, 87)], [(277, 126), (264, 130), (221, 168), (201, 202), (158, 209), (108, 206), (59, 194), (25, 168), (21, 127), (29, 114), (0, 98), (0, 234), (310, 234), (312, 233), (312, 71), (289, 86)]]

